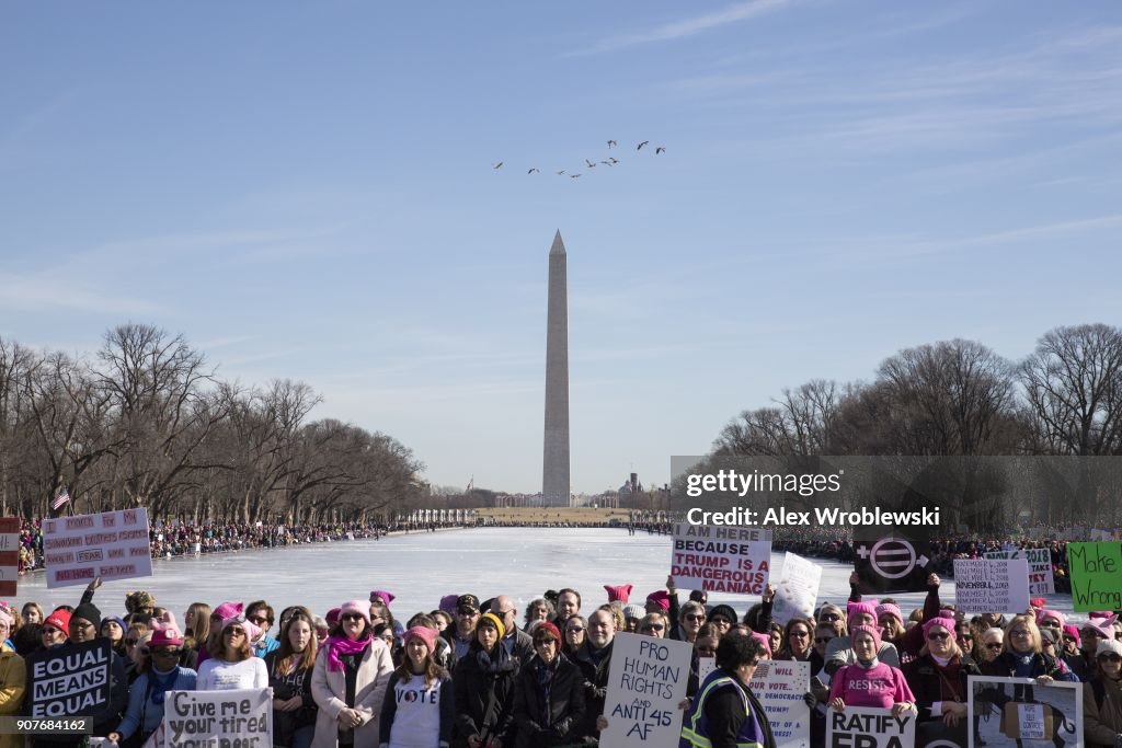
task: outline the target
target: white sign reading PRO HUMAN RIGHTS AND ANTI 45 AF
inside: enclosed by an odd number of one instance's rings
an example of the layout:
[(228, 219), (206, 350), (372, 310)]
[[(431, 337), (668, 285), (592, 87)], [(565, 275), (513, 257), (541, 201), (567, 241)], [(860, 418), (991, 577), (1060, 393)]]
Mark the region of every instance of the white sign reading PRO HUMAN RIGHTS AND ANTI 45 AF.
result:
[(690, 676), (688, 641), (617, 634), (604, 703), (604, 748), (674, 748), (682, 727), (678, 704)]

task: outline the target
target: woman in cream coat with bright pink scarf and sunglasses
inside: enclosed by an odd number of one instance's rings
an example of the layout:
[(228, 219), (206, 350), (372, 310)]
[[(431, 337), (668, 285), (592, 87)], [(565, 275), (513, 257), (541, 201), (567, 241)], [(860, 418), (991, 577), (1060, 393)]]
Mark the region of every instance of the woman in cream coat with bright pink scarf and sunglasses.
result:
[(312, 698), (320, 708), (312, 748), (378, 745), (378, 718), (393, 672), (389, 648), (374, 636), (369, 602), (344, 602), (312, 672)]

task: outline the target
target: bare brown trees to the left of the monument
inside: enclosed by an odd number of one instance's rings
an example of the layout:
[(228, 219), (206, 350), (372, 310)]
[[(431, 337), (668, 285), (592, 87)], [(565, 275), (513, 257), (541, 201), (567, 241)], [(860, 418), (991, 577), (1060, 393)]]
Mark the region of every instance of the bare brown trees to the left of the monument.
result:
[(146, 324), (90, 357), (0, 338), (0, 505), (47, 516), (148, 507), (187, 521), (392, 519), (423, 492), (423, 465), (390, 436), (311, 421), (322, 398), (277, 379), (218, 377), (182, 335)]

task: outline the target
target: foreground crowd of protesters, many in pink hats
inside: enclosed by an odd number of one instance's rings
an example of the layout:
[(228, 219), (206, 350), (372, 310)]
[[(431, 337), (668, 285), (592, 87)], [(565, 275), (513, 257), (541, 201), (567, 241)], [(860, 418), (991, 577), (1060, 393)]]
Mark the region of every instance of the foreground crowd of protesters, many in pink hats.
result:
[[(1043, 599), (1020, 615), (960, 611), (940, 599), (937, 574), (927, 584), (923, 607), (904, 611), (892, 599), (863, 599), (854, 574), (848, 601), (822, 602), (783, 625), (772, 618), (771, 585), (737, 611), (708, 604), (705, 592), (681, 600), (670, 578), (643, 602), (631, 601), (629, 584), (605, 585), (603, 603), (567, 588), (523, 608), (508, 594), (466, 592), (407, 616), (394, 611), (386, 590), (327, 611), (196, 602), (182, 611), (181, 627), (144, 591), (126, 598), (123, 616), (103, 613), (95, 581), (74, 608), (0, 604), (0, 713), (20, 713), (29, 681), (22, 658), (101, 637), (114, 653), (112, 696), (92, 714), (94, 735), (119, 746), (148, 738), (168, 691), (266, 686), (274, 745), (284, 748), (594, 746), (610, 724), (613, 641), (628, 631), (692, 645), (688, 698), (679, 704), (683, 748), (775, 745), (748, 686), (767, 658), (809, 663), (812, 746), (825, 745), (827, 713), (850, 707), (914, 714), (917, 746), (966, 746), (971, 731), (983, 745), (980, 715), (967, 719), (971, 675), (1027, 678), (1018, 695), (1030, 702), (1033, 687), (1083, 683), (1084, 745), (1122, 746), (1118, 615), (1096, 612), (1076, 625)], [(1001, 696), (994, 700), (1000, 709)], [(1060, 747), (1058, 728), (1056, 736)], [(34, 745), (80, 740), (40, 736)], [(0, 736), (0, 748), (15, 745)]]

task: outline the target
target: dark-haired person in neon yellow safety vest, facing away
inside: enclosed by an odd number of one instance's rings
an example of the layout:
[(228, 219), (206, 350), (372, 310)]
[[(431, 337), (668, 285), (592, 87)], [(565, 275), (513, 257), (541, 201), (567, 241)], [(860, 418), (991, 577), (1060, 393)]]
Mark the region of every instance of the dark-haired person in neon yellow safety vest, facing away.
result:
[(681, 744), (695, 748), (775, 748), (767, 714), (748, 683), (764, 657), (757, 639), (730, 632), (717, 645), (717, 668), (698, 690)]

